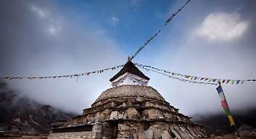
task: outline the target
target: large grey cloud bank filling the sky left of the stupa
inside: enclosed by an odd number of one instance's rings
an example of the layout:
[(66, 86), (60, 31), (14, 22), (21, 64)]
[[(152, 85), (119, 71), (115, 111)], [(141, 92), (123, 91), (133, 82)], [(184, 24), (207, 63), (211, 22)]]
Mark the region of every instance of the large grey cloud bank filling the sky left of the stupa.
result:
[[(0, 1), (0, 9), (0, 76), (69, 75), (126, 61), (103, 27), (91, 19), (78, 24), (52, 1)], [(77, 82), (68, 78), (7, 83), (37, 102), (81, 113), (110, 87), (115, 72), (79, 77)]]

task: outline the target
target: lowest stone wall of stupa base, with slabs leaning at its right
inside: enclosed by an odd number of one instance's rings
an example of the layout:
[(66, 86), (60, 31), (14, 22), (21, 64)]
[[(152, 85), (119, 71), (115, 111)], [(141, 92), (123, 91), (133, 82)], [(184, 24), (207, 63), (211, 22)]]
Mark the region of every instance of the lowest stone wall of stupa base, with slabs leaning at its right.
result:
[(118, 125), (118, 139), (170, 139), (170, 138), (201, 138), (206, 137), (204, 128), (193, 125), (122, 122)]

